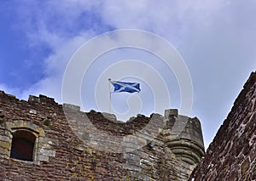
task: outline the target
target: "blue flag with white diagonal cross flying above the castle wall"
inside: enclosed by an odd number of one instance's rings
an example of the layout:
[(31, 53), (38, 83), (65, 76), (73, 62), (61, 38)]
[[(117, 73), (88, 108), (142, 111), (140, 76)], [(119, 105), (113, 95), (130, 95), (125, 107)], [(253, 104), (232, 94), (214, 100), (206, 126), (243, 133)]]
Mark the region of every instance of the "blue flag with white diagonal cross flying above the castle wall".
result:
[(113, 93), (139, 93), (141, 91), (140, 84), (137, 82), (116, 82), (111, 81), (113, 85)]

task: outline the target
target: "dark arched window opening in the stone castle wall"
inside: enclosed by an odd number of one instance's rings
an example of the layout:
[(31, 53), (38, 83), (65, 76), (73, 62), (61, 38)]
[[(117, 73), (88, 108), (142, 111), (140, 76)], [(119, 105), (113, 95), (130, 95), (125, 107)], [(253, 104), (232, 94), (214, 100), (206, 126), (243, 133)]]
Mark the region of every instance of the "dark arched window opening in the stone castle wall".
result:
[(33, 161), (33, 151), (36, 136), (25, 130), (16, 131), (13, 133), (11, 158), (22, 161)]

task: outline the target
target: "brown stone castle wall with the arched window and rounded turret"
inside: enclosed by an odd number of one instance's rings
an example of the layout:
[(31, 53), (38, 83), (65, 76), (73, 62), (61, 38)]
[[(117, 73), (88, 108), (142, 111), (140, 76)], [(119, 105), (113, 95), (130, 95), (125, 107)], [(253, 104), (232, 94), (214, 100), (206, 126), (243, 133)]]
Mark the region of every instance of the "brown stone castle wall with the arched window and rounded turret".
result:
[[(183, 132), (172, 132), (183, 122)], [(11, 157), (15, 133), (35, 137), (33, 161)], [(118, 150), (118, 151), (116, 151)], [(197, 118), (166, 110), (128, 122), (43, 95), (0, 91), (0, 180), (187, 180), (204, 154)]]

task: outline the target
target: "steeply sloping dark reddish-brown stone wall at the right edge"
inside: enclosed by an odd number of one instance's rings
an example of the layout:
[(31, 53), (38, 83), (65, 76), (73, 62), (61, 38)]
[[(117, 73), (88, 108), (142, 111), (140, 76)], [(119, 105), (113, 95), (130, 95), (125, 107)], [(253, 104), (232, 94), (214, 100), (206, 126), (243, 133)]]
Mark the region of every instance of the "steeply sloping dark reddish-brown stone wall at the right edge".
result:
[(256, 180), (256, 73), (237, 97), (190, 180)]

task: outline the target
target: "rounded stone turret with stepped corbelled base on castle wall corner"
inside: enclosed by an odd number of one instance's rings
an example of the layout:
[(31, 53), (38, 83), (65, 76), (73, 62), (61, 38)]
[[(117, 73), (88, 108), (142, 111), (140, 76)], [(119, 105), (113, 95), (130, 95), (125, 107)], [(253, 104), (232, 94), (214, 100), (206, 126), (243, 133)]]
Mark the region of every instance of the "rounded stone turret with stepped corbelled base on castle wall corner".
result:
[(197, 117), (178, 115), (177, 110), (165, 111), (164, 138), (172, 153), (191, 165), (205, 154), (201, 123)]

